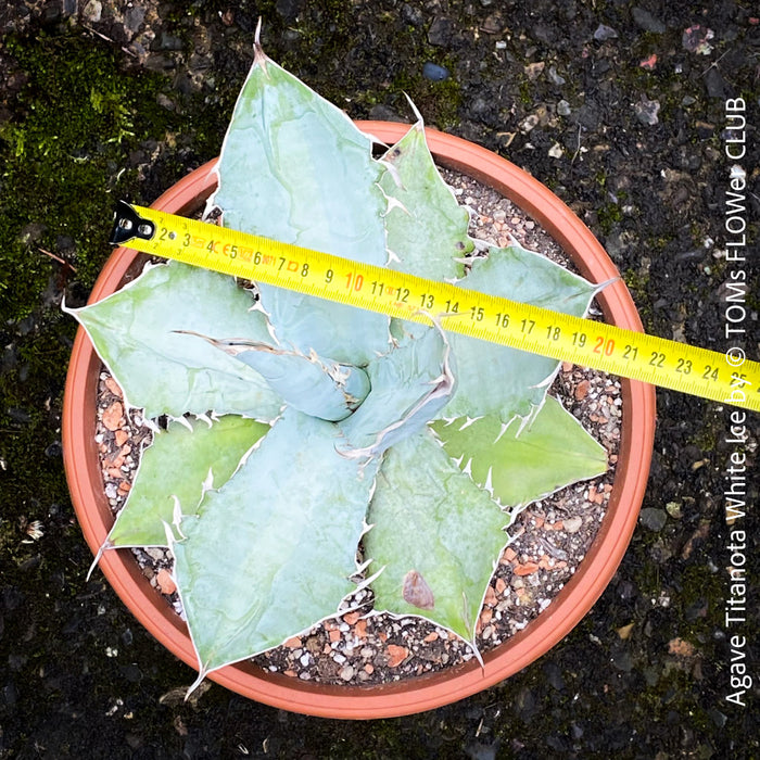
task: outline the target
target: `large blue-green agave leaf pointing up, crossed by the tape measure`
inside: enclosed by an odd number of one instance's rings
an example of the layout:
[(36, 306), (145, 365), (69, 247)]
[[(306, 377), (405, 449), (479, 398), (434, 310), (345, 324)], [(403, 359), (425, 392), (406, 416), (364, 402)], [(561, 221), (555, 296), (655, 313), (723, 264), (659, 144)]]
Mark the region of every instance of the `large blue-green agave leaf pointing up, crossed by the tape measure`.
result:
[[(257, 49), (218, 164), (226, 227), (384, 266), (387, 200), (371, 141)], [(364, 365), (389, 349), (388, 318), (261, 286), (281, 344)]]

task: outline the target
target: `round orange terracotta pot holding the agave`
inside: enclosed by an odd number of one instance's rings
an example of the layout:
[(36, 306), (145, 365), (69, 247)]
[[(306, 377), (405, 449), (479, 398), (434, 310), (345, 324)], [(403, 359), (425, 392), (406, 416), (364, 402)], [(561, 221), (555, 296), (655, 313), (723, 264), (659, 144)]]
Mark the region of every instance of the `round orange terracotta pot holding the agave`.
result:
[[(360, 128), (393, 142), (406, 127), (368, 122)], [(596, 239), (549, 190), (520, 168), (478, 145), (428, 130), (440, 164), (467, 174), (509, 198), (539, 221), (594, 282), (618, 276)], [(153, 205), (175, 214), (194, 211), (214, 189), (214, 162), (202, 166), (164, 193)], [(137, 254), (118, 249), (107, 261), (90, 301), (117, 290)], [(622, 280), (597, 296), (607, 321), (642, 330), (636, 308)], [(103, 492), (94, 443), (96, 394), (100, 359), (80, 328), (74, 343), (63, 409), (63, 445), (72, 501), (85, 537), (97, 552), (113, 516)], [(625, 553), (636, 525), (651, 457), (655, 427), (654, 388), (623, 381), (622, 440), (616, 481), (600, 530), (584, 561), (549, 607), (525, 629), (484, 656), (444, 672), (375, 687), (316, 685), (265, 672), (250, 663), (228, 666), (213, 681), (275, 707), (344, 719), (402, 715), (456, 701), (512, 675), (544, 655), (586, 615), (605, 590)], [(186, 625), (150, 586), (128, 552), (106, 552), (100, 569), (135, 617), (172, 653), (191, 667), (195, 656)]]

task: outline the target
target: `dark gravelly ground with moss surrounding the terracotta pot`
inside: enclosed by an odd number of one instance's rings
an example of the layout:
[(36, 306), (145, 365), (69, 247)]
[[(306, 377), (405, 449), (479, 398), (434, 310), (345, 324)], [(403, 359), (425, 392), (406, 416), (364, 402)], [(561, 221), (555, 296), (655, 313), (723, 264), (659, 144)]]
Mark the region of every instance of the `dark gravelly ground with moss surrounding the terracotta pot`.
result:
[[(269, 55), (351, 116), (407, 119), (408, 92), (429, 123), (546, 182), (606, 245), (649, 332), (758, 358), (760, 9), (749, 0), (7, 0), (0, 758), (760, 757), (760, 425), (748, 414), (737, 443), (720, 404), (658, 393), (641, 522), (604, 596), (539, 662), (432, 712), (340, 723), (216, 685), (185, 704), (190, 669), (102, 577), (86, 582), (61, 458), (74, 335), (61, 297), (86, 299), (116, 198), (149, 202), (216, 155), (259, 15)], [(730, 130), (732, 113), (746, 125)], [(738, 240), (725, 227), (734, 164), (747, 185), (730, 214), (746, 223), (747, 245), (733, 249), (743, 262), (724, 253)], [(740, 312), (725, 302), (736, 281)], [(744, 332), (729, 340), (732, 318)], [(730, 527), (732, 455), (747, 509)], [(725, 568), (742, 559), (746, 584), (732, 590)], [(726, 622), (726, 601), (743, 596), (746, 620)], [(745, 663), (742, 692), (731, 677)]]

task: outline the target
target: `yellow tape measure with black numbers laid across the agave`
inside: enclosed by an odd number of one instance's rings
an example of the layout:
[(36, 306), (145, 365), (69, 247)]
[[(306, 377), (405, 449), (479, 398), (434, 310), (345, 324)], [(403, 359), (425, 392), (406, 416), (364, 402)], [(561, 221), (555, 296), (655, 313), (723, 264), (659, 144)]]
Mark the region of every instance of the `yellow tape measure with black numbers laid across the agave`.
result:
[(119, 203), (111, 242), (760, 411), (760, 364)]

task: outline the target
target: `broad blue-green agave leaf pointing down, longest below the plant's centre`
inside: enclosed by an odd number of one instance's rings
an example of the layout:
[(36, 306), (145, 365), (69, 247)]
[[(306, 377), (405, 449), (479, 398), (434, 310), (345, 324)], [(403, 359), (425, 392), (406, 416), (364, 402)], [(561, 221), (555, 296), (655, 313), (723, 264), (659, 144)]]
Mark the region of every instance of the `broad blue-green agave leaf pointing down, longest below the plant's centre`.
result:
[(333, 616), (356, 573), (375, 468), (333, 423), (287, 409), (236, 474), (182, 519), (175, 575), (199, 681)]

